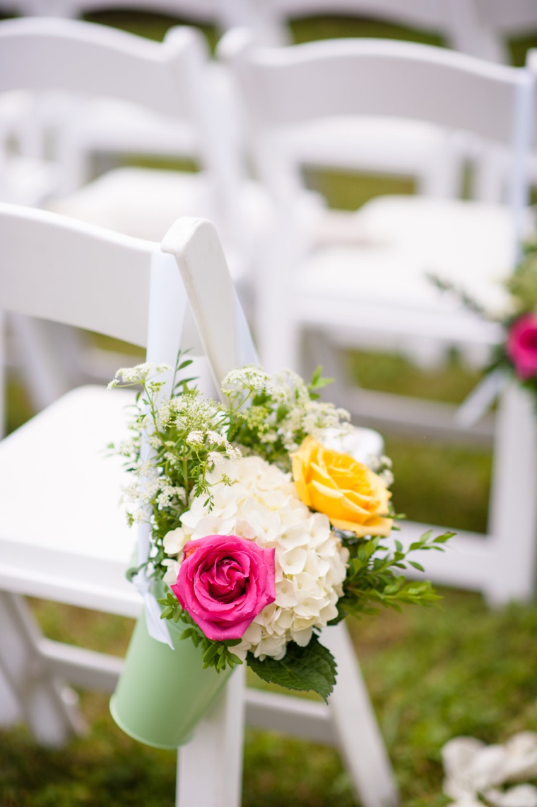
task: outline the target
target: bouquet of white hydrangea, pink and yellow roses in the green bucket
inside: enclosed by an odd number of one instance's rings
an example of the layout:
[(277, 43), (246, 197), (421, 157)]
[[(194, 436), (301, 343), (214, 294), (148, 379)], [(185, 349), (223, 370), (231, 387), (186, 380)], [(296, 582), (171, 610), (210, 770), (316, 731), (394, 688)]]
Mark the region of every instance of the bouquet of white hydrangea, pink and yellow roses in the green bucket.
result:
[(216, 402), (181, 377), (189, 364), (178, 357), (167, 396), (164, 365), (119, 370), (110, 384), (140, 387), (131, 439), (116, 447), (131, 471), (127, 518), (150, 534), (129, 575), (162, 583), (160, 616), (182, 623), (203, 668), (247, 663), (326, 699), (335, 660), (323, 628), (435, 602), (431, 583), (406, 580), (406, 555), (441, 550), (451, 533), (426, 533), (408, 552), (385, 541), (397, 529), (389, 459), (365, 464), (331, 447), (352, 427), (319, 399), (320, 368), (307, 385), (289, 370), (234, 370)]

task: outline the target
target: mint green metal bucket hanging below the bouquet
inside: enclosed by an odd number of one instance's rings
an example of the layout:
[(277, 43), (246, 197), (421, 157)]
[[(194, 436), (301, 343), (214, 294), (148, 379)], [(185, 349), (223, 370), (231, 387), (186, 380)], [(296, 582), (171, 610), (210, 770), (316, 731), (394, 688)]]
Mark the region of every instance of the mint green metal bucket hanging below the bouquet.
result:
[(198, 722), (226, 684), (231, 670), (203, 670), (202, 650), (180, 640), (185, 626), (167, 621), (174, 650), (149, 636), (139, 617), (110, 713), (125, 734), (147, 746), (177, 748), (189, 742)]

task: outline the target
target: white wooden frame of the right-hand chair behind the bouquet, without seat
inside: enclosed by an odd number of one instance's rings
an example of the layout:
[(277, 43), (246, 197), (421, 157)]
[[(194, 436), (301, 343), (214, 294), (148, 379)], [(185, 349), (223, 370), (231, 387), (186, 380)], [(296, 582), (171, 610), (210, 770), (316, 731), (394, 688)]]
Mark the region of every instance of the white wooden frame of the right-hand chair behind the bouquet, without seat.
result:
[[(425, 307), (368, 306), (360, 303), (359, 295), (327, 299), (327, 295), (321, 298), (306, 286), (293, 286), (293, 270), (307, 266), (308, 247), (298, 236), (293, 177), (282, 159), (279, 138), (285, 128), (316, 117), (409, 115), (475, 132), (510, 148), (508, 199), (516, 234), (514, 261), (527, 199), (527, 161), (533, 140), (535, 77), (530, 71), (489, 64), (439, 48), (381, 40), (256, 48), (244, 31), (231, 31), (219, 52), (234, 70), (244, 97), (257, 170), (281, 211), (280, 237), (275, 239), (272, 263), (260, 275), (259, 298), (264, 300), (264, 307), (258, 337), (264, 364), (277, 366), (285, 356), (292, 366), (293, 362), (298, 366), (298, 330), (307, 326), (327, 334), (334, 332), (336, 338), (339, 330), (352, 330), (358, 325), (373, 339), (389, 333), (398, 338), (414, 335), (421, 340), (447, 339), (463, 345), (494, 344), (497, 329), (477, 318), (470, 321), (465, 312), (440, 316)], [(311, 86), (315, 87), (314, 93), (308, 91)], [(403, 92), (402, 87), (412, 87), (412, 92)], [(276, 311), (278, 328), (273, 328)], [(353, 411), (356, 400), (358, 407), (354, 411), (360, 412), (360, 395), (360, 391), (349, 393), (342, 399), (343, 405)], [(440, 429), (440, 408), (434, 408), (431, 414), (422, 402), (409, 417), (401, 403), (402, 399), (390, 401), (389, 396), (381, 399), (376, 395), (371, 408), (375, 408), (377, 424), (403, 424), (408, 431), (420, 431), (427, 414), (429, 422)], [(451, 429), (455, 434), (458, 424), (452, 412), (448, 416), (451, 420), (443, 422), (445, 433)], [(464, 429), (458, 430), (458, 436), (464, 439)], [(433, 579), (475, 588), (485, 594), (489, 603), (502, 604), (511, 599), (531, 599), (537, 565), (535, 417), (527, 395), (514, 385), (502, 394), (494, 439), (487, 535), (459, 531), (448, 553), (428, 556), (425, 565), (427, 575)], [(428, 526), (403, 522), (403, 541), (410, 543)]]

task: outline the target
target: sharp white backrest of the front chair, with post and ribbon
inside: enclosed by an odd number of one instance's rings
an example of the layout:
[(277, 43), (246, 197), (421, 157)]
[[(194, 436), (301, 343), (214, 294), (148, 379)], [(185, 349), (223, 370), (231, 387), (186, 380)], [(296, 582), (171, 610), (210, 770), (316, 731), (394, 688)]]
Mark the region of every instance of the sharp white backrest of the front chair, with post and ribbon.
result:
[[(179, 347), (193, 349), (206, 355), (218, 386), (233, 367), (256, 362), (219, 238), (208, 221), (185, 218), (164, 249), (170, 254), (150, 241), (0, 204), (2, 309), (147, 347), (148, 361), (170, 366)], [(214, 394), (202, 362), (197, 372)]]

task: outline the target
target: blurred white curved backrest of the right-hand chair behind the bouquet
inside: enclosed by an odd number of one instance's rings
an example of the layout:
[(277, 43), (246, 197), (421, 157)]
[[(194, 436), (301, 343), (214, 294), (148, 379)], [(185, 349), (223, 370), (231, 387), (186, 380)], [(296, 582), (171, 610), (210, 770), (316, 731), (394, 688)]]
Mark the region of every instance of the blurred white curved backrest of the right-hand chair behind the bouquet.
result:
[[(292, 185), (281, 139), (327, 117), (386, 115), (463, 130), (511, 149), (509, 199), (526, 200), (535, 79), (443, 48), (389, 40), (327, 40), (262, 48), (231, 31), (219, 55), (233, 73), (248, 116), (253, 156), (264, 181), (285, 199)], [(395, 148), (397, 146), (395, 145)]]

